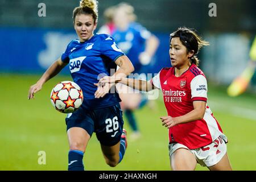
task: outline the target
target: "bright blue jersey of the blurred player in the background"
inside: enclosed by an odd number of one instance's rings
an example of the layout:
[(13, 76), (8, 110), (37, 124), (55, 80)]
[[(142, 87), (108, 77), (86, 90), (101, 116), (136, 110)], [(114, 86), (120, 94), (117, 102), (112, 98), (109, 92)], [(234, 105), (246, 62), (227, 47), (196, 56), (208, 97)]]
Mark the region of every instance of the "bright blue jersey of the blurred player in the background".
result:
[(133, 63), (134, 71), (139, 72), (142, 64), (139, 62), (139, 54), (145, 49), (145, 42), (151, 33), (139, 23), (130, 23), (126, 31), (115, 30), (113, 38), (117, 46), (125, 52)]

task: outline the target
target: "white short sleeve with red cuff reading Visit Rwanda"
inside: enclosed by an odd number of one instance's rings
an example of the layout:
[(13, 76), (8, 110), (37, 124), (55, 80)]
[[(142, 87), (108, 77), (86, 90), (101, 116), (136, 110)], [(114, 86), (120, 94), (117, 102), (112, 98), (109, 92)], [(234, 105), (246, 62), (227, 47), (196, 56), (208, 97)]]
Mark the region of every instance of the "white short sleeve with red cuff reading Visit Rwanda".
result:
[(207, 80), (203, 75), (198, 75), (191, 81), (192, 101), (207, 101)]

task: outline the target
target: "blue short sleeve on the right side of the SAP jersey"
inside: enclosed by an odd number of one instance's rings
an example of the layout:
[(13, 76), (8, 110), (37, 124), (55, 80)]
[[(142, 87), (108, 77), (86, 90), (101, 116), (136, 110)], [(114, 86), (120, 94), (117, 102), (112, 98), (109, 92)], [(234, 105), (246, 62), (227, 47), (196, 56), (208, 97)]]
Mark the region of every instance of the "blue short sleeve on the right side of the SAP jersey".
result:
[(115, 61), (118, 57), (125, 55), (121, 49), (117, 47), (112, 36), (105, 36), (101, 42), (101, 54), (109, 57), (111, 60)]

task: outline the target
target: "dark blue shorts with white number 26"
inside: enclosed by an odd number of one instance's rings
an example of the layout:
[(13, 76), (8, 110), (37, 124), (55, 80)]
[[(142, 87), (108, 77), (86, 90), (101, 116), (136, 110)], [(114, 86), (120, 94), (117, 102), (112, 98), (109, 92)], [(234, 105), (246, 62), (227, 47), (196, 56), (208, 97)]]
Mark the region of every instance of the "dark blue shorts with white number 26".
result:
[(97, 139), (104, 146), (114, 146), (122, 135), (123, 117), (120, 105), (87, 110), (82, 106), (66, 120), (67, 130), (71, 127), (81, 127), (92, 137), (96, 133)]

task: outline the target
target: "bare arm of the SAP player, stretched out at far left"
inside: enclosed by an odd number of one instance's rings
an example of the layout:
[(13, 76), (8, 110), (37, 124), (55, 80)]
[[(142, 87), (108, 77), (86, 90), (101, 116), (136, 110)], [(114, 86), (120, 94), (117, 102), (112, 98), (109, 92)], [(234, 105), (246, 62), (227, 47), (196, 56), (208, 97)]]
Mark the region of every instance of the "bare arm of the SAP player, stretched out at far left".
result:
[(61, 59), (57, 59), (48, 69), (44, 72), (43, 76), (36, 82), (36, 84), (30, 86), (28, 90), (28, 100), (34, 98), (34, 94), (42, 89), (42, 86), (45, 82), (47, 82), (52, 77), (56, 76), (61, 69), (65, 67), (68, 63), (63, 63)]

